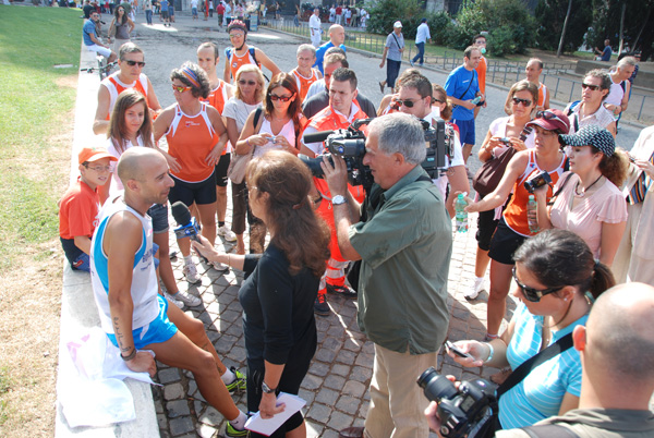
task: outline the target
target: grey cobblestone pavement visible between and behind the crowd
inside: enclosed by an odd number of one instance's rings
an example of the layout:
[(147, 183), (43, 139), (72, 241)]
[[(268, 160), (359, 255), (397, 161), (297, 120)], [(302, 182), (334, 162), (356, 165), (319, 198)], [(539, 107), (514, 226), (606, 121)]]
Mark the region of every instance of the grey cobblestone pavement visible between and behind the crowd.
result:
[[(217, 42), (223, 49), (228, 44), (228, 36), (223, 29), (218, 32), (215, 22), (192, 22), (182, 14), (177, 15), (178, 22), (170, 28), (162, 27), (157, 20), (158, 17), (155, 17), (156, 24), (153, 27), (138, 23), (135, 42), (145, 52), (147, 65), (144, 73), (150, 77), (161, 105), (168, 106), (174, 101), (169, 87), (170, 70), (186, 60), (195, 61), (197, 46), (207, 39)], [(140, 15), (137, 21), (142, 22), (143, 17)], [(304, 41), (265, 29), (251, 33), (249, 40), (262, 48), (283, 71), (290, 71), (294, 66), (295, 48)], [(349, 52), (348, 59), (351, 68), (360, 74), (361, 93), (378, 104), (382, 95), (377, 82), (384, 78), (384, 71), (378, 69), (378, 59), (356, 52)], [(221, 59), (219, 71), (222, 69), (222, 62)], [(431, 70), (425, 70), (425, 74), (429, 80), (445, 84), (446, 74)], [(476, 123), (477, 145), (482, 143), (486, 126), (495, 118), (504, 115), (501, 105), (505, 97), (504, 90), (488, 89), (489, 107), (481, 112)], [(637, 134), (638, 130), (625, 127), (620, 138), (627, 139), (625, 145), (630, 148)], [(480, 166), (475, 157), (471, 158), (469, 165), (472, 171)], [(231, 207), (228, 224), (230, 218)], [(487, 294), (482, 293), (471, 303), (462, 296), (465, 288), (472, 285), (474, 278), (475, 218), (476, 215), (470, 218), (469, 232), (455, 235), (448, 284), (448, 308), (451, 315), (448, 338), (451, 340), (482, 339), (485, 333)], [(171, 224), (174, 223), (172, 218), (170, 221)], [(171, 242), (174, 242), (172, 233)], [(232, 245), (221, 242), (220, 239), (217, 245), (222, 246), (225, 251), (232, 251)], [(174, 250), (177, 246), (172, 243), (171, 251)], [(172, 261), (180, 288), (189, 289), (203, 300), (201, 306), (187, 312), (205, 324), (209, 339), (225, 364), (244, 370), (242, 311), (238, 302), (242, 272), (218, 272), (197, 263), (202, 283), (189, 285), (181, 272), (181, 257), (173, 258)], [(337, 430), (342, 427), (362, 425), (368, 405), (367, 387), (372, 376), (373, 344), (358, 329), (356, 302), (332, 295), (329, 295), (328, 300), (332, 313), (329, 317), (317, 317), (318, 349), (300, 391), (300, 397), (307, 402), (303, 413), (310, 437), (337, 437)], [(510, 318), (510, 309), (514, 307), (511, 299), (508, 307), (507, 318)], [(443, 353), (435, 365), (439, 373), (452, 374), (460, 379), (479, 375), (487, 377), (496, 372), (493, 368), (462, 369), (449, 357), (444, 358)], [(221, 436), (225, 421), (199, 394), (193, 376), (162, 364), (158, 364), (158, 369), (157, 378), (162, 386), (154, 391), (161, 436)], [(244, 394), (234, 396), (234, 401), (245, 411)]]

